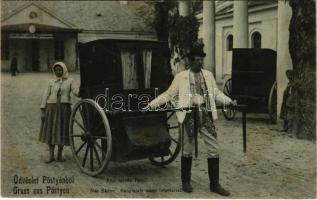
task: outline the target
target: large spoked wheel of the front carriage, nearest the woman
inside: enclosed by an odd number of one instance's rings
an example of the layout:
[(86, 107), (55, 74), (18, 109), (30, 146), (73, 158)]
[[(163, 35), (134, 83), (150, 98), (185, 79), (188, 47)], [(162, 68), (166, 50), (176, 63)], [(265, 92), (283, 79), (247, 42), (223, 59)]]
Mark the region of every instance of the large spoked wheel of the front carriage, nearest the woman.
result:
[(97, 176), (107, 167), (112, 151), (109, 122), (105, 112), (92, 99), (75, 104), (69, 123), (73, 156), (82, 172)]

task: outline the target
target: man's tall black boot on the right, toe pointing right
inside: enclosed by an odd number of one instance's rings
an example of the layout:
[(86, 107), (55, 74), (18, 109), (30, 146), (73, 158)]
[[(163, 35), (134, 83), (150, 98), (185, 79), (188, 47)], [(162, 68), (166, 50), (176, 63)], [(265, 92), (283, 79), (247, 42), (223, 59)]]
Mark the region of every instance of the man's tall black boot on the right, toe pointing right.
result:
[(219, 158), (208, 158), (208, 175), (210, 191), (222, 196), (229, 196), (230, 192), (219, 184)]

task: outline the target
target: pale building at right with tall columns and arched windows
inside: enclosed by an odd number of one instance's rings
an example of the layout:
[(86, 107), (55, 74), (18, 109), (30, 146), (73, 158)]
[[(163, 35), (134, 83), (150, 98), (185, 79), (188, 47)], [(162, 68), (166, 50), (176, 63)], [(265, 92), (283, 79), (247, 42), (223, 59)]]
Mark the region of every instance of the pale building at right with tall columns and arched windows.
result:
[[(199, 37), (205, 46), (214, 47), (206, 49), (205, 66), (214, 72), (219, 85), (223, 85), (231, 77), (232, 48), (275, 50), (279, 116), (283, 92), (288, 84), (285, 72), (293, 69), (288, 46), (292, 10), (288, 1), (209, 2), (212, 6), (206, 2), (204, 6), (209, 7), (204, 7), (203, 12), (197, 15), (201, 23)], [(206, 26), (215, 28), (203, 28)], [(212, 34), (212, 30), (215, 34)]]

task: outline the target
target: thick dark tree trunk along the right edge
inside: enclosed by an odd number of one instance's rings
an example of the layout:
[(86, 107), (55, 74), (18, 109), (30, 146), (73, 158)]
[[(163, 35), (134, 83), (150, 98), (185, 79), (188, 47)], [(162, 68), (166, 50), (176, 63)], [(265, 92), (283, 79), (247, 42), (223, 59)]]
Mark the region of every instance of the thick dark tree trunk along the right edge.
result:
[(290, 96), (291, 131), (299, 138), (316, 139), (316, 25), (315, 0), (289, 0), (292, 18), (289, 50), (294, 80)]

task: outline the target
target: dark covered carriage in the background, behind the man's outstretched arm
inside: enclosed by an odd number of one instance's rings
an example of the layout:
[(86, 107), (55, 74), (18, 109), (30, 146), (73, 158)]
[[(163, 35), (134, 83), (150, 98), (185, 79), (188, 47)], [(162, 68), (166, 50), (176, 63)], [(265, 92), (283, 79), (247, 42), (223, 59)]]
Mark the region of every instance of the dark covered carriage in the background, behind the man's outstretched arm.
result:
[[(248, 113), (268, 113), (276, 122), (276, 52), (271, 49), (233, 49), (232, 76), (223, 92), (247, 105)], [(235, 117), (234, 107), (222, 110), (227, 120)]]

